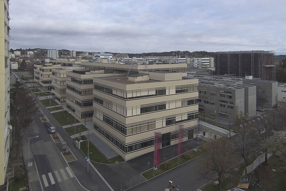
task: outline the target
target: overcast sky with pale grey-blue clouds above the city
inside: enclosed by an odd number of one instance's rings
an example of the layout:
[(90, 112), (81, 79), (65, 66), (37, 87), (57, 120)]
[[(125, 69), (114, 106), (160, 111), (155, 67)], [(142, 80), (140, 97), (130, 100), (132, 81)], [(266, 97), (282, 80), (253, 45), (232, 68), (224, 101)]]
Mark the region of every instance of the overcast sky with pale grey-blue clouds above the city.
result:
[(285, 0), (10, 0), (10, 48), (286, 54)]

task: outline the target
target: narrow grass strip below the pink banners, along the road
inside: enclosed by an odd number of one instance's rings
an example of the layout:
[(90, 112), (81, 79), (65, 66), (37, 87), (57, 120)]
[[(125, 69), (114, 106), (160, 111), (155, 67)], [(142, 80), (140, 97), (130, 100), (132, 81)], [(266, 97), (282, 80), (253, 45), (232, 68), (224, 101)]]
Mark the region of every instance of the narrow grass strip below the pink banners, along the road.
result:
[[(199, 155), (202, 155), (203, 153), (200, 151), (200, 149), (198, 149), (198, 154), (197, 154), (197, 151), (194, 151), (194, 150), (191, 150), (188, 152), (188, 157), (185, 158), (184, 155), (180, 155), (179, 156), (179, 164), (183, 164), (187, 161), (190, 161), (192, 160), (193, 158), (196, 158), (197, 156)], [(162, 165), (160, 166), (157, 166), (157, 170), (155, 170), (155, 176), (157, 175), (160, 175), (162, 174), (163, 172), (166, 172), (172, 168), (175, 168), (178, 166), (178, 158), (174, 158), (170, 161), (167, 161), (167, 164), (166, 164), (166, 169), (162, 167)], [(147, 180), (149, 180), (150, 178), (153, 178), (153, 169), (149, 169), (149, 177), (148, 177), (148, 172), (143, 172), (142, 173), (142, 176), (144, 176)]]

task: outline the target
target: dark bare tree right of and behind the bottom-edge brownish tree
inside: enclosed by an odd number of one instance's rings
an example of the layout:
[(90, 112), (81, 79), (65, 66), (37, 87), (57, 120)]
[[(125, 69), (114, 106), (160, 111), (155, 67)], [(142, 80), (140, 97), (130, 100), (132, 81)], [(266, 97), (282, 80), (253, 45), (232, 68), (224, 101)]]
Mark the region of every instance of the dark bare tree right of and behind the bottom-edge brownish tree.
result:
[(238, 133), (231, 137), (231, 139), (234, 143), (237, 155), (243, 158), (246, 175), (248, 158), (257, 151), (258, 141), (254, 138), (254, 129), (251, 129), (250, 125), (247, 123), (237, 126), (235, 130)]

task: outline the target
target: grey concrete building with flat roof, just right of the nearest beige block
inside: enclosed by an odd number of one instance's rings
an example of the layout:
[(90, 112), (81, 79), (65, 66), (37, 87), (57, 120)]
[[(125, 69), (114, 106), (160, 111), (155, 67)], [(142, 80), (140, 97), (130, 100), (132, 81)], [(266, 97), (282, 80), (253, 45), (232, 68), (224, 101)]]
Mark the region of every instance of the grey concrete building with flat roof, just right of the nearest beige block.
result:
[(256, 115), (256, 86), (199, 79), (199, 111), (213, 119), (236, 121)]

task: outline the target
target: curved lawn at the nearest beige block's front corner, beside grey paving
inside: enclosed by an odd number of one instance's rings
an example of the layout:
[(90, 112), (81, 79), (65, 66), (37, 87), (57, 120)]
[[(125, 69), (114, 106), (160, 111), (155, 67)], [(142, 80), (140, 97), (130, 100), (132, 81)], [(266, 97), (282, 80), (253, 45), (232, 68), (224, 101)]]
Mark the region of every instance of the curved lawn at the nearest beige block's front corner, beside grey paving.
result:
[[(81, 137), (82, 140), (86, 140), (86, 136)], [(87, 156), (87, 149), (86, 147), (86, 141), (80, 143), (80, 150)], [(114, 164), (117, 162), (123, 162), (123, 158), (121, 156), (116, 156), (113, 158), (106, 158), (104, 154), (100, 152), (91, 142), (89, 142), (89, 157), (90, 160), (98, 163), (103, 163), (103, 164)]]

